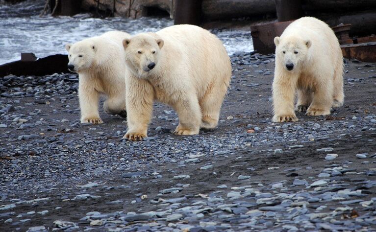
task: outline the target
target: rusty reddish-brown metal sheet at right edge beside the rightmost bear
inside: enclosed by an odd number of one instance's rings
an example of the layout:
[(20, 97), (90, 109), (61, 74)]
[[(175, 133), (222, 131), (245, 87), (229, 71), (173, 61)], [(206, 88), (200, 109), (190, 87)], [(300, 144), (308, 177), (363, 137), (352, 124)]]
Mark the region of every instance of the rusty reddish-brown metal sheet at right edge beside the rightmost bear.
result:
[(376, 42), (341, 45), (341, 49), (345, 58), (376, 62)]

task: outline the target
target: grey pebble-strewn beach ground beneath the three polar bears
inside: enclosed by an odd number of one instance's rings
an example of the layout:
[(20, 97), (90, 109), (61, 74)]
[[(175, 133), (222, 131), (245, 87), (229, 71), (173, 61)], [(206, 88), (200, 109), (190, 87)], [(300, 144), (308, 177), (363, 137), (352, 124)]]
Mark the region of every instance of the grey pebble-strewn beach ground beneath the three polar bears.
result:
[(0, 78), (0, 231), (376, 231), (376, 64), (346, 60), (345, 105), (271, 122), (274, 56), (235, 54), (218, 128), (179, 137), (155, 104), (80, 124), (78, 77)]

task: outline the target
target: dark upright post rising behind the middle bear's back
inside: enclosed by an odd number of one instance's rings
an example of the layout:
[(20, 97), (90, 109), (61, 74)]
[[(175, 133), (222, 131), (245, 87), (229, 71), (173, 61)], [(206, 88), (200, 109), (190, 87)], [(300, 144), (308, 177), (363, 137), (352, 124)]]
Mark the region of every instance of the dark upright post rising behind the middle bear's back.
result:
[(174, 24), (200, 25), (201, 3), (202, 0), (176, 0)]

